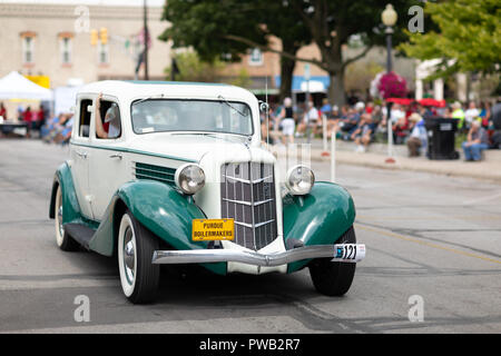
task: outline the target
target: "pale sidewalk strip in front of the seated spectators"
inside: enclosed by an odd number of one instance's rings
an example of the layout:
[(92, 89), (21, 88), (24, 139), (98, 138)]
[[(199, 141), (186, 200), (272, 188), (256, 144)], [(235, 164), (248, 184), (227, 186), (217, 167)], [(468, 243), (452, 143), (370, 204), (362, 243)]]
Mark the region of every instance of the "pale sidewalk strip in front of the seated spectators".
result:
[[(297, 141), (305, 144), (305, 140)], [(328, 149), (331, 142), (328, 142)], [(425, 157), (409, 158), (405, 145), (394, 146), (394, 164), (386, 164), (387, 146), (383, 144), (372, 144), (367, 152), (355, 152), (353, 142), (336, 141), (336, 164), (365, 166), (384, 169), (401, 169), (413, 171), (425, 171), (452, 177), (470, 177), (489, 179), (501, 182), (501, 150), (484, 151), (484, 160), (480, 162), (466, 162), (462, 159), (456, 160), (430, 160)], [(277, 152), (277, 157), (283, 156), (283, 150), (278, 146), (271, 146), (271, 150)], [(322, 156), (322, 140), (312, 141), (312, 160), (325, 161), (328, 164), (331, 157)], [(462, 152), (460, 152), (462, 156)]]

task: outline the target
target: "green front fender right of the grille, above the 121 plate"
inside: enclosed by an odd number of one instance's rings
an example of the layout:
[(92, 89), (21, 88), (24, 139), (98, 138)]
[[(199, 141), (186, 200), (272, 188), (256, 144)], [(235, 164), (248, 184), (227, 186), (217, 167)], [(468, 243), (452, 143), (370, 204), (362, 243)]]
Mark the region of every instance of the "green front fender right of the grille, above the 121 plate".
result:
[[(287, 196), (284, 206), (284, 237), (301, 240), (304, 246), (332, 245), (355, 221), (355, 205), (346, 189), (331, 182), (317, 182), (307, 196)], [(308, 260), (288, 265), (288, 273)]]

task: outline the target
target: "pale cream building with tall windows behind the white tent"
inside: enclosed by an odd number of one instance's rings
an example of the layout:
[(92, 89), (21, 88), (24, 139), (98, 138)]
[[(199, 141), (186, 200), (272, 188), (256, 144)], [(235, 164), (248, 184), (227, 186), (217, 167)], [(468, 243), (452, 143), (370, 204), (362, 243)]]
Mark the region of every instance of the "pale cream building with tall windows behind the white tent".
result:
[[(148, 0), (150, 79), (164, 79), (170, 63), (169, 43), (157, 39), (167, 26), (163, 3)], [(0, 77), (43, 76), (51, 88), (135, 78), (143, 0), (1, 0), (0, 23)]]

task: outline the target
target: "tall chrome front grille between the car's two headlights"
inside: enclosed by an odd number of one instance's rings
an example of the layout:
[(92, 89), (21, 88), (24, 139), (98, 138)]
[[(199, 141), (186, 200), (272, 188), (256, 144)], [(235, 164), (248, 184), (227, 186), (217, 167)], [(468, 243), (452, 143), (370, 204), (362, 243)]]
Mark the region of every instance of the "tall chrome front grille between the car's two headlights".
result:
[(273, 165), (226, 164), (220, 168), (222, 217), (235, 219), (235, 243), (258, 250), (277, 236)]

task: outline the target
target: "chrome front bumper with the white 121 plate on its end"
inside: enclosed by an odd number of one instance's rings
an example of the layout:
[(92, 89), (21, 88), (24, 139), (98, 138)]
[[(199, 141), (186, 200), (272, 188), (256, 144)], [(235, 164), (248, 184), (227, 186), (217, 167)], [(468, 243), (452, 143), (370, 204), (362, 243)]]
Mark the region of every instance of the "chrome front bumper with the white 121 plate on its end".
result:
[(328, 258), (333, 261), (357, 263), (365, 257), (365, 245), (336, 244), (297, 247), (276, 254), (236, 249), (158, 250), (153, 264), (243, 263), (254, 266), (282, 266), (302, 259)]

